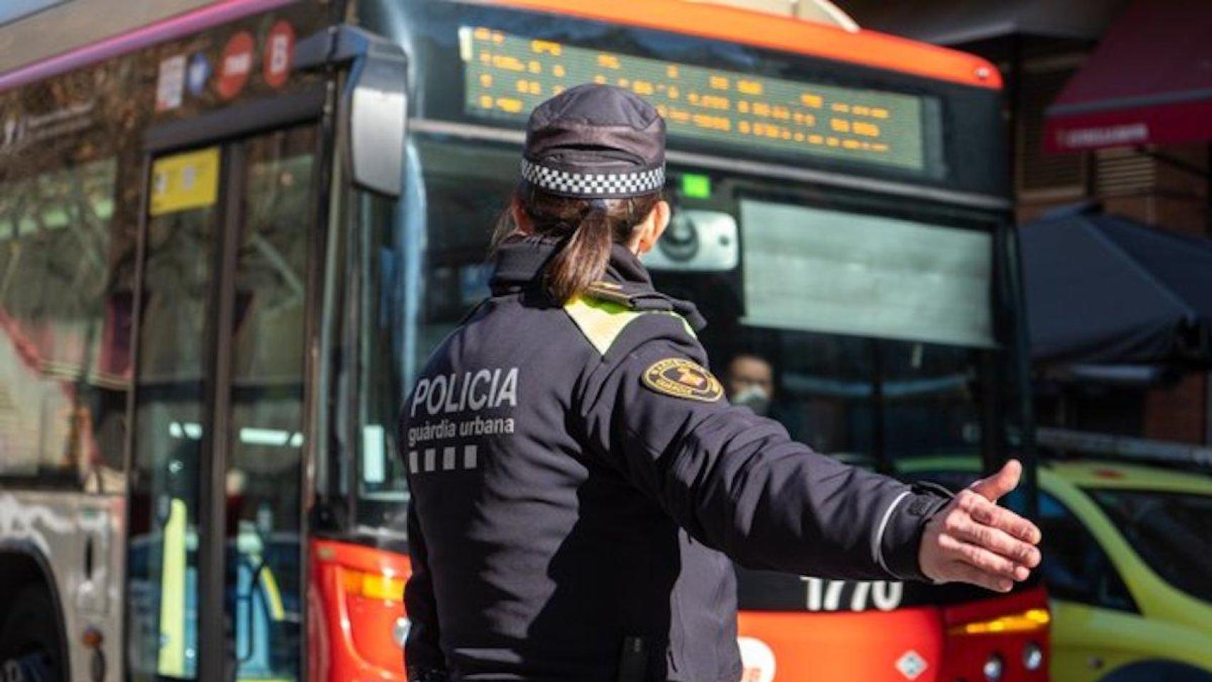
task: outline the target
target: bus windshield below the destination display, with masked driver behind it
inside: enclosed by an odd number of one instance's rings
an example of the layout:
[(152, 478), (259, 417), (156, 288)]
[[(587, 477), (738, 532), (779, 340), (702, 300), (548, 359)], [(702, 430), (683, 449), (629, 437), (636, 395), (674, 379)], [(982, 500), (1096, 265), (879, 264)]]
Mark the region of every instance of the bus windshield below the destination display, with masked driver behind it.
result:
[[(366, 319), (393, 325), (385, 337), (379, 328), (382, 355), (367, 369), (381, 386), (367, 426), (377, 434), (391, 431), (391, 391), (488, 296), (490, 235), (518, 182), (508, 144), (417, 136), (412, 157), (423, 201), (394, 227), (371, 220), (379, 292)], [(731, 399), (861, 464), (979, 454), (1001, 346), (990, 218), (685, 164), (669, 172), (675, 216), (645, 263), (658, 290), (705, 315), (699, 338), (726, 388), (744, 383), (730, 369), (745, 360), (770, 374), (765, 401)], [(381, 436), (370, 440), (361, 509), (382, 523), (373, 514), (405, 499), (404, 470)]]

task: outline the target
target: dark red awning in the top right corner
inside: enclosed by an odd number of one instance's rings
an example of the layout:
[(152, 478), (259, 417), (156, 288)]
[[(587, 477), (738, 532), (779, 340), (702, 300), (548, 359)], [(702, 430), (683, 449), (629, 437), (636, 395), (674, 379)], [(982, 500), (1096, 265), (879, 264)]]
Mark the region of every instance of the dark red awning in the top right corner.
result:
[(1048, 151), (1212, 139), (1212, 2), (1136, 0), (1047, 110)]

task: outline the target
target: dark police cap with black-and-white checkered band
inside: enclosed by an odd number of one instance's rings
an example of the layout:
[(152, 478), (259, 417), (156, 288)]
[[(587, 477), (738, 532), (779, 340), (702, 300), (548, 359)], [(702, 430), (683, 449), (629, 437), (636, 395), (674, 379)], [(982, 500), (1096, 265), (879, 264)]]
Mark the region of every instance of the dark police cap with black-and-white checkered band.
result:
[(570, 88), (531, 113), (522, 180), (574, 199), (659, 191), (665, 185), (665, 121), (630, 91)]

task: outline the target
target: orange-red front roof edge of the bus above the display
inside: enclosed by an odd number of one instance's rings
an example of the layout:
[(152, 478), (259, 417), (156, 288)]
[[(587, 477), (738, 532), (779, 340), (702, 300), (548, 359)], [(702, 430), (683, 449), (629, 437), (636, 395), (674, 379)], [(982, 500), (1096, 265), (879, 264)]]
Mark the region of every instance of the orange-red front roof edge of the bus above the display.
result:
[[(847, 31), (816, 22), (688, 0), (470, 0), (556, 15), (744, 42), (784, 52), (914, 74), (936, 80), (1001, 88), (1001, 73), (988, 61), (949, 50), (859, 29)], [(691, 5), (691, 6), (687, 6)]]

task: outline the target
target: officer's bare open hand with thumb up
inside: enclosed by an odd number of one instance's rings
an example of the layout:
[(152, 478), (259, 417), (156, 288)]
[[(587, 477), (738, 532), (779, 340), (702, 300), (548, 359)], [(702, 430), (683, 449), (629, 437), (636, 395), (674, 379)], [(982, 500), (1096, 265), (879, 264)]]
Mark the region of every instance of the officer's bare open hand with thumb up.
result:
[(936, 583), (959, 580), (1008, 592), (1040, 564), (1040, 529), (997, 506), (1018, 486), (1023, 465), (1012, 459), (988, 478), (961, 491), (930, 523), (921, 538), (917, 562)]

